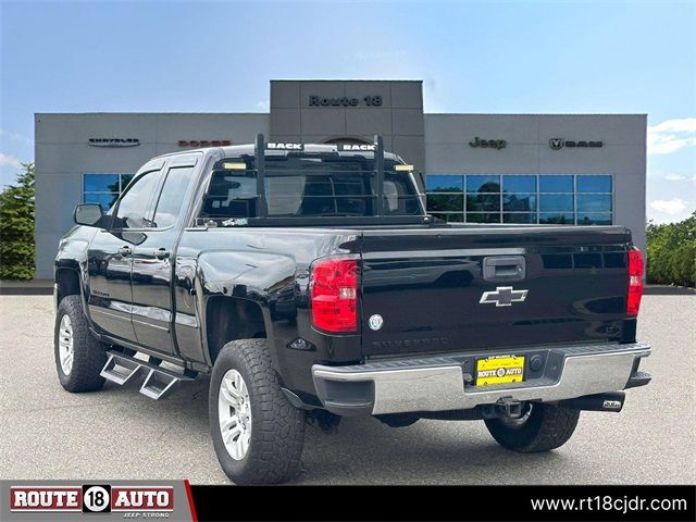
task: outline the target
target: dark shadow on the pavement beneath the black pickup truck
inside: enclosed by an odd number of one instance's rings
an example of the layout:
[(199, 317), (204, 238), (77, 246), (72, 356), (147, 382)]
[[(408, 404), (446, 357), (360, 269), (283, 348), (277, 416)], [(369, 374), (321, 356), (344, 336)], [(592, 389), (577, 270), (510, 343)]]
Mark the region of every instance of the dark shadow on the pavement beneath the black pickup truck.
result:
[[(188, 438), (200, 440), (199, 450), (210, 452), (201, 455), (200, 465), (210, 462), (220, 482), (228, 483), (212, 445), (206, 444), (210, 437), (209, 382), (201, 376), (167, 399), (145, 401), (140, 406), (146, 411), (140, 414), (169, 419), (163, 434), (173, 424), (177, 424), (175, 430), (197, 432), (188, 433)], [(109, 385), (108, 390), (109, 395), (130, 395), (137, 394), (138, 386), (119, 389)], [(172, 433), (166, 436), (171, 438)], [(520, 455), (499, 447), (482, 421), (421, 420), (393, 428), (373, 418), (353, 418), (344, 419), (335, 434), (307, 425), (301, 472), (290, 484), (520, 484), (530, 475), (544, 481), (549, 468), (557, 472), (564, 465), (562, 449)]]

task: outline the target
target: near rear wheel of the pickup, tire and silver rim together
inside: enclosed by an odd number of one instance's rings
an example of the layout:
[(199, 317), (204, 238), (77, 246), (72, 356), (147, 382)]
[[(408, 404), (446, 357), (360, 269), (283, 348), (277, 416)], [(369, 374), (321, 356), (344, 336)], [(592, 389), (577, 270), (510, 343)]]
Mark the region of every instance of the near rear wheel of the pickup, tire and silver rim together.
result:
[(210, 380), (209, 419), (220, 465), (236, 484), (277, 484), (297, 474), (304, 412), (283, 394), (266, 339), (223, 347)]

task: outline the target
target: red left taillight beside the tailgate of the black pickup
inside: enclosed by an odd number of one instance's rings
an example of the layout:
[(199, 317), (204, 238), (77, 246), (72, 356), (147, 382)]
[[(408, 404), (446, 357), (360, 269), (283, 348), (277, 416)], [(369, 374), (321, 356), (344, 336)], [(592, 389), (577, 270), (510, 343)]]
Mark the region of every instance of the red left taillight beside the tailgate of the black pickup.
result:
[(358, 260), (326, 258), (312, 264), (312, 323), (326, 332), (358, 326)]

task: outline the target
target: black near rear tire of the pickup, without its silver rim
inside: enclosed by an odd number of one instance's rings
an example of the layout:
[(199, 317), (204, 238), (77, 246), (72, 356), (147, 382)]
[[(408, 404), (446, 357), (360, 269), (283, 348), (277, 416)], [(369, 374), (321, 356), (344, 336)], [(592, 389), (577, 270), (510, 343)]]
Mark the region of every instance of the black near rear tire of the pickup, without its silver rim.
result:
[[(239, 460), (225, 447), (219, 415), (220, 387), (231, 370), (244, 378), (251, 411), (250, 440)], [(304, 411), (295, 408), (281, 389), (266, 339), (233, 340), (222, 348), (210, 380), (209, 419), (217, 460), (234, 483), (277, 484), (299, 471)]]

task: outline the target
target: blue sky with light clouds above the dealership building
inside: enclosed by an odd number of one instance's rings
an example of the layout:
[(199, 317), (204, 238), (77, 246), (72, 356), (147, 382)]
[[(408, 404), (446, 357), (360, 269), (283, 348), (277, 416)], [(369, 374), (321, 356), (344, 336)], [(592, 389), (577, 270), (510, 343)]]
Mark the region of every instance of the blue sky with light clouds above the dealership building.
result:
[(696, 209), (696, 2), (0, 0), (0, 184), (35, 112), (265, 112), (271, 78), (423, 79), (426, 112), (647, 113), (648, 216)]

